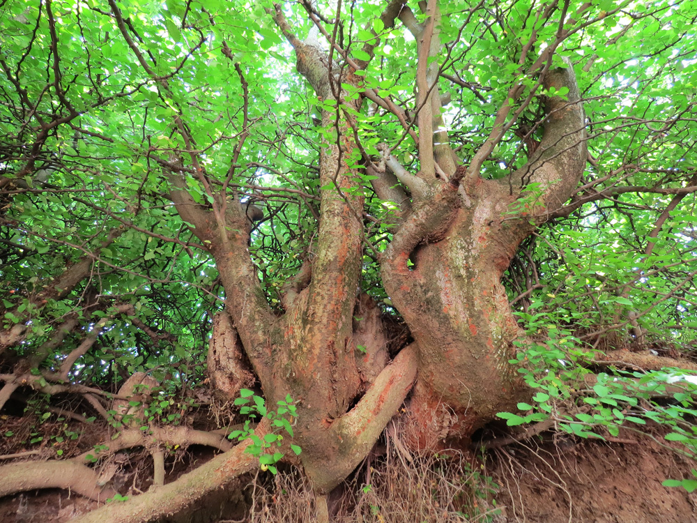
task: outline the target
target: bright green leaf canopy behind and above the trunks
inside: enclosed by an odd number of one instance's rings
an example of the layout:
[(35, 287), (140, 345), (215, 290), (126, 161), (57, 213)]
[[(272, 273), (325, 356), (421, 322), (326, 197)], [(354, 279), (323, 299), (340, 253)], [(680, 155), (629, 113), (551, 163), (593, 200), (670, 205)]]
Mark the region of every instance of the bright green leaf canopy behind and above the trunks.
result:
[[(374, 89), (413, 112), (416, 43), (403, 24), (385, 28), (378, 18), (380, 8), (360, 2), (344, 11), (351, 23), (344, 24), (342, 45), (356, 60), (367, 58), (363, 45), (376, 45), (374, 59), (356, 72), (362, 77), (360, 89)], [(528, 107), (521, 106), (524, 97), (514, 100), (513, 109), (522, 109), (521, 122), (534, 128), (532, 136), (538, 140), (544, 116), (538, 102), (544, 96), (564, 95), (536, 87), (536, 76), (521, 73), (519, 63), (533, 31), (538, 50), (542, 43), (553, 43), (558, 15), (536, 19), (529, 14), (534, 8), (527, 0), (497, 3), (496, 8), (497, 23), (487, 24), (484, 31), (462, 3), (441, 6), (440, 38), (448, 47), (435, 63), (444, 75), (461, 82), (442, 77), (438, 88), (452, 99), (444, 109), (445, 126), (464, 164), (491, 133), (492, 115), (508, 99), (514, 82), (532, 96)], [(45, 345), (71, 314), (88, 329), (102, 314), (111, 314), (110, 302), (131, 303), (135, 312), (109, 320), (71, 379), (101, 386), (121, 372), (154, 367), (153, 375), (160, 381), (168, 377), (173, 386), (201, 381), (210, 317), (221, 308), (224, 291), (214, 261), (196, 248), (167, 198), (170, 156), (181, 158), (189, 169), (192, 196), (204, 204), (210, 198), (190, 172), (190, 155), (174, 117), (185, 121), (197, 151), (204, 151), (200, 162), (211, 183), (220, 187), (229, 177), (231, 191), (263, 209), (265, 218), (252, 232), (250, 252), (266, 299), (280, 311), (284, 283), (314, 255), (319, 196), (323, 190), (335, 190), (319, 183), (319, 138), (332, 130), (316, 119), (321, 109), (337, 112), (345, 104), (332, 105), (311, 92), (294, 70), (292, 51), (262, 4), (123, 4), (139, 53), (153, 75), (167, 77), (166, 89), (141, 66), (110, 13), (89, 1), (56, 0), (54, 36), (43, 9), (38, 0), (8, 1), (0, 8), (0, 57), (6, 64), (0, 77), (6, 100), (0, 105), (0, 175), (13, 183), (20, 177), (31, 189), (8, 195), (11, 204), (3, 202), (7, 223), (15, 224), (2, 232), (3, 326), (31, 318), (26, 340), (16, 348), (28, 354)], [(622, 169), (594, 190), (661, 183), (681, 187), (697, 165), (693, 122), (681, 117), (693, 110), (697, 92), (690, 58), (694, 5), (661, 0), (616, 14), (613, 9), (609, 3), (585, 11), (572, 6), (565, 22), (569, 36), (553, 63), (563, 65), (558, 56), (571, 59), (581, 82), (588, 145), (597, 164), (588, 168), (584, 180), (597, 181)], [(305, 10), (291, 3), (285, 13), (298, 36), (305, 38), (312, 26)], [(664, 37), (663, 43), (655, 34)], [(47, 67), (54, 38), (59, 74)], [(229, 56), (222, 52), (223, 42)], [(533, 55), (523, 66), (530, 66)], [(346, 100), (358, 96), (354, 91), (349, 89)], [(38, 116), (52, 125), (41, 140)], [(418, 171), (413, 139), (392, 114), (364, 103), (352, 116), (363, 151), (375, 155), (376, 144), (385, 142), (406, 169)], [(526, 161), (514, 130), (515, 126), (484, 162), (484, 176), (509, 176)], [(31, 144), (39, 149), (25, 171), (23, 151)], [(351, 151), (347, 162), (355, 165), (357, 159), (358, 151)], [(365, 194), (363, 211), (375, 220), (366, 224), (365, 236), (381, 252), (391, 240), (390, 217), (396, 206), (376, 197), (370, 182), (371, 176), (361, 169), (349, 190)], [(302, 197), (286, 190), (299, 191)], [(530, 202), (523, 199), (521, 205), (539, 203), (532, 194)], [(629, 307), (631, 302), (648, 309), (659, 296), (673, 291), (682, 269), (672, 264), (684, 259), (694, 243), (689, 239), (694, 213), (686, 200), (664, 225), (652, 254), (642, 256), (657, 210), (670, 200), (669, 194), (623, 193), (611, 204), (586, 204), (553, 229), (539, 232), (544, 242), (537, 242), (533, 259), (541, 265), (544, 288), (535, 289), (529, 298), (567, 296), (568, 303), (561, 307), (566, 312), (558, 317), (588, 328), (602, 323), (618, 305)], [(109, 232), (119, 227), (123, 230), (114, 243), (102, 247)], [(93, 277), (68, 296), (45, 303), (29, 299), (84, 256), (95, 263)], [(629, 296), (613, 296), (639, 269), (659, 272), (634, 281)], [(378, 301), (388, 299), (374, 253), (368, 251), (361, 285)], [(514, 284), (509, 288), (514, 298), (520, 289)], [(678, 294), (661, 300), (643, 314), (642, 326), (659, 335), (668, 325), (671, 335), (689, 344), (695, 339), (691, 327), (696, 316), (680, 298), (691, 292), (694, 285), (689, 282)], [(100, 296), (98, 307), (86, 307), (86, 297), (92, 295)], [(686, 310), (678, 307), (681, 303)], [(546, 313), (547, 308), (538, 312)], [(137, 320), (169, 336), (153, 340), (134, 323)], [(80, 338), (75, 331), (66, 336), (41, 365), (55, 370)], [(169, 372), (172, 367), (175, 372)]]

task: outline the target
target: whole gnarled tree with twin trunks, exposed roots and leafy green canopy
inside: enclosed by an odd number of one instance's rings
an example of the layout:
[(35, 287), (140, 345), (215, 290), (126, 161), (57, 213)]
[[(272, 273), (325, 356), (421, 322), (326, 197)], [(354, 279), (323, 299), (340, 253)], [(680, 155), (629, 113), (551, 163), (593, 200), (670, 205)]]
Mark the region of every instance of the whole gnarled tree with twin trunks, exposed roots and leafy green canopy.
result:
[[(108, 5), (0, 3), (0, 406), (69, 393), (121, 428), (0, 493), (116, 496), (87, 464), (151, 416), (227, 452), (85, 521), (186, 510), (279, 427), (326, 519), (390, 420), (411, 450), (466, 444), (523, 419), (534, 370), (694, 343), (694, 4)], [(216, 397), (257, 391), (234, 448), (153, 421), (206, 357)], [(666, 363), (689, 366), (641, 367)]]

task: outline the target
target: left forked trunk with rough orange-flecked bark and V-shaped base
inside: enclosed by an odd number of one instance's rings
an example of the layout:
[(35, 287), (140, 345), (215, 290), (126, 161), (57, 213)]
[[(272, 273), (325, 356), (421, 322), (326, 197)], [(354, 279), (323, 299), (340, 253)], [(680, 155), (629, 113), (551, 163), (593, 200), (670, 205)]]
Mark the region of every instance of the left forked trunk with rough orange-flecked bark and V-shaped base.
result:
[[(300, 460), (315, 490), (329, 492), (356, 467), (404, 401), (413, 384), (415, 352), (406, 351), (380, 374), (372, 375), (367, 380), (373, 381), (372, 386), (356, 403), (362, 384), (353, 310), (362, 263), (363, 197), (351, 190), (361, 183), (355, 170), (358, 146), (351, 112), (360, 109), (361, 99), (351, 98), (346, 85), (358, 86), (360, 79), (338, 66), (332, 71), (325, 52), (293, 35), (279, 6), (273, 15), (296, 50), (298, 71), (322, 100), (337, 100), (346, 108), (322, 114), (323, 125), (335, 130), (335, 136), (323, 138), (320, 154), (320, 183), (325, 190), (319, 233), (314, 256), (296, 278), (303, 288), (295, 289), (292, 299), (284, 302), (285, 314), (271, 312), (261, 291), (247, 250), (249, 221), (240, 202), (210, 192), (211, 209), (197, 205), (187, 192), (188, 185), (197, 181), (177, 173), (170, 176), (178, 188), (171, 192), (171, 199), (220, 272), (231, 319), (225, 328), (217, 324), (215, 335), (229, 338), (222, 350), (229, 353), (238, 342), (244, 348), (270, 408), (288, 394), (296, 400), (294, 441), (302, 448)], [(206, 185), (202, 176), (200, 181)], [(238, 342), (231, 338), (232, 329), (238, 333)], [(214, 354), (220, 341), (211, 344)], [(374, 354), (384, 367), (385, 355), (378, 354), (383, 350), (377, 347)], [(225, 359), (226, 365), (232, 357), (215, 355), (217, 361)]]

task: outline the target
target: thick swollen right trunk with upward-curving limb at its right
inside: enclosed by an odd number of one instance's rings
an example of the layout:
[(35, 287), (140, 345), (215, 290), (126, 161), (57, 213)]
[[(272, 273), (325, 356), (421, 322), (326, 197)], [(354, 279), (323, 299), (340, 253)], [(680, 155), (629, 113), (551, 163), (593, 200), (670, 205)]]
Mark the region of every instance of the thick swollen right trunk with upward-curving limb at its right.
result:
[[(385, 289), (419, 347), (414, 446), (466, 437), (517, 401), (521, 389), (508, 360), (521, 333), (500, 279), (535, 223), (576, 187), (586, 158), (573, 70), (552, 71), (545, 86), (567, 86), (569, 101), (548, 100), (544, 138), (528, 165), (503, 183), (477, 177), (457, 197), (447, 183), (433, 184), (434, 195), (415, 207), (385, 252)], [(528, 195), (530, 182), (540, 185)]]

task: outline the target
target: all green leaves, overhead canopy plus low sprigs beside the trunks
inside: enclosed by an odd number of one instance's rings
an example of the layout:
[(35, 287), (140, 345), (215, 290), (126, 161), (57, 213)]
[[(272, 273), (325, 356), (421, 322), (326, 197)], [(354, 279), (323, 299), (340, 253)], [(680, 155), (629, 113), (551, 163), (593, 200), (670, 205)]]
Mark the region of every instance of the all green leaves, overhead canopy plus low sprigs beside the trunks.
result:
[[(697, 169), (697, 4), (622, 5), (572, 3), (560, 20), (556, 9), (547, 19), (538, 17), (530, 0), (471, 12), (462, 1), (441, 2), (439, 38), (446, 45), (431, 65), (440, 68), (439, 93), (451, 100), (442, 111), (443, 129), (464, 165), (492, 134), (502, 105), (517, 115), (516, 121), (507, 117), (510, 128), (482, 165), (485, 178), (525, 185), (504, 220), (551, 206), (541, 201), (543, 186), (514, 180), (512, 172), (530, 153), (516, 131), (527, 130), (539, 142), (545, 97), (567, 95), (544, 91), (539, 71), (531, 69), (562, 33), (567, 38), (549, 66), (566, 67), (561, 57), (572, 62), (588, 120), (592, 162), (579, 205), (535, 231), (505, 278), (521, 325), (531, 337), (549, 341), (519, 347), (515, 364), (535, 393), (519, 412), (500, 417), (508, 425), (551, 418), (560, 430), (594, 438), (616, 435), (620, 427), (642, 430), (653, 421), (668, 427), (668, 441), (694, 455), (694, 388), (686, 376), (610, 368), (593, 384), (585, 381), (585, 368), (594, 365), (590, 347), (689, 354), (697, 344), (694, 197), (675, 199), (694, 185)], [(104, 320), (68, 381), (116, 390), (123, 377), (147, 370), (163, 392), (138, 425), (181, 423), (194, 402), (175, 391), (204, 380), (211, 318), (225, 296), (215, 259), (171, 203), (168, 174), (181, 167), (194, 200), (210, 206), (213, 194), (198, 176), (195, 157), (215, 190), (225, 186), (231, 201), (262, 209), (250, 254), (263, 298), (281, 313), (284, 286), (316, 256), (319, 200), (337, 190), (319, 180), (328, 146), (322, 140), (336, 137), (323, 116), (351, 116), (361, 150), (344, 158), (355, 168), (345, 192), (365, 196), (356, 212), (374, 247), (364, 251), (361, 290), (398, 314), (383, 289), (376, 254), (392, 241), (398, 208), (372, 189), (362, 153), (378, 162), (377, 146), (387, 144), (415, 173), (419, 151), (385, 107), (366, 101), (356, 111), (346, 101), (372, 89), (413, 119), (419, 110), (416, 40), (404, 24), (385, 28), (379, 3), (353, 3), (342, 13), (341, 44), (358, 61), (370, 58), (365, 44), (374, 45), (374, 58), (353, 72), (361, 78), (359, 89), (344, 84), (342, 102), (323, 100), (297, 74), (268, 6), (121, 2), (130, 43), (114, 13), (93, 0), (53, 0), (50, 13), (39, 0), (1, 3), (0, 177), (6, 184), (0, 186), (0, 323), (6, 330), (26, 327), (10, 351), (32, 358), (37, 388), (56, 379), (66, 356)], [(302, 3), (284, 4), (284, 14), (300, 38), (314, 26)], [(534, 45), (521, 54), (533, 35)], [(338, 66), (346, 61), (337, 59)], [(521, 91), (512, 98), (514, 86)], [(88, 267), (79, 283), (58, 287), (81, 262)], [(123, 312), (123, 305), (130, 308)], [(630, 313), (643, 334), (633, 330)], [(672, 393), (676, 384), (682, 389)], [(659, 402), (657, 395), (671, 395), (671, 401)], [(282, 441), (279, 432), (292, 437), (293, 402), (286, 398), (269, 411), (246, 389), (240, 400), (243, 414), (269, 418), (275, 432), (267, 435), (270, 441), (256, 441), (247, 420), (233, 438), (252, 439), (250, 451), (275, 471), (277, 453), (267, 451)], [(33, 411), (38, 425), (45, 423), (43, 407)], [(44, 442), (35, 429), (26, 444)], [(67, 432), (54, 441), (58, 437)]]

